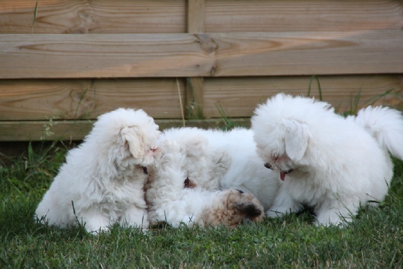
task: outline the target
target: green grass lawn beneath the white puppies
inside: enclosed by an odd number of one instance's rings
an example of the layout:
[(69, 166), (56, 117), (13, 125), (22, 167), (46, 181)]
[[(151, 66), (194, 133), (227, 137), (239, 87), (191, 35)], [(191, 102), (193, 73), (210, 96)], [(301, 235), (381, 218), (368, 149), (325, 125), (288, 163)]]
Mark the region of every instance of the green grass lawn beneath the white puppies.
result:
[[(403, 162), (379, 208), (360, 211), (345, 228), (315, 227), (306, 211), (238, 229), (137, 229), (110, 234), (41, 226), (34, 211), (67, 146), (27, 146), (4, 158), (0, 179), (0, 267), (401, 267)], [(5, 156), (3, 156), (5, 157)]]

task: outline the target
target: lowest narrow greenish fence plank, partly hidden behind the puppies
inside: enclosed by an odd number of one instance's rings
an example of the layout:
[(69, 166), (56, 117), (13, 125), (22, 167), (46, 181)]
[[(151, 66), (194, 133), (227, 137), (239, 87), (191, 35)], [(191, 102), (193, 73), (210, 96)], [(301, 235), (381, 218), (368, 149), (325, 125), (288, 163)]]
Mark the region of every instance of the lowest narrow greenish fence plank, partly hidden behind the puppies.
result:
[[(182, 127), (181, 120), (156, 120), (160, 130)], [(234, 119), (231, 125), (249, 127), (249, 119)], [(0, 121), (0, 141), (81, 140), (90, 131), (93, 121)], [(185, 121), (186, 126), (200, 128), (225, 128), (223, 119)]]

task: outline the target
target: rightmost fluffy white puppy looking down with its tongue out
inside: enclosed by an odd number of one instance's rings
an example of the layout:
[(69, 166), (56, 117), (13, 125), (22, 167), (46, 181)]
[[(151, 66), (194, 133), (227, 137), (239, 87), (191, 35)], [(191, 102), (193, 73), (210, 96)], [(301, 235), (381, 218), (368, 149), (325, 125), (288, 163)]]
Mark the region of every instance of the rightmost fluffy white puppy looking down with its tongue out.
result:
[(316, 224), (350, 222), (360, 206), (387, 194), (388, 151), (403, 158), (403, 118), (386, 107), (345, 119), (326, 102), (281, 93), (256, 108), (251, 125), (265, 167), (283, 181), (268, 217), (308, 205)]

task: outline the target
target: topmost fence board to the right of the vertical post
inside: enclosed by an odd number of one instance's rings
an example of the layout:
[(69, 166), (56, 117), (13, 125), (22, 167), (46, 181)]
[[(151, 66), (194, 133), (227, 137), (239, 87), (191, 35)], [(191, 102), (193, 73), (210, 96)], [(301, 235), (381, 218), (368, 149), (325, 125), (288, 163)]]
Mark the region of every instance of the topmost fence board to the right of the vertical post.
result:
[(400, 0), (206, 0), (206, 32), (400, 30)]

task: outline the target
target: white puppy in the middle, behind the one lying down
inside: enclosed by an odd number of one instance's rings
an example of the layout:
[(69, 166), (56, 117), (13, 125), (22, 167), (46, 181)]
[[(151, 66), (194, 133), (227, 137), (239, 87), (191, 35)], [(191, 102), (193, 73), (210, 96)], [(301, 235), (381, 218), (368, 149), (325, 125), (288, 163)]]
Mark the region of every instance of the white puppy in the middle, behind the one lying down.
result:
[(252, 130), (172, 128), (164, 130), (159, 140), (166, 139), (176, 140), (185, 147), (184, 170), (194, 185), (251, 193), (264, 210), (273, 204), (279, 188), (278, 175), (261, 165)]

